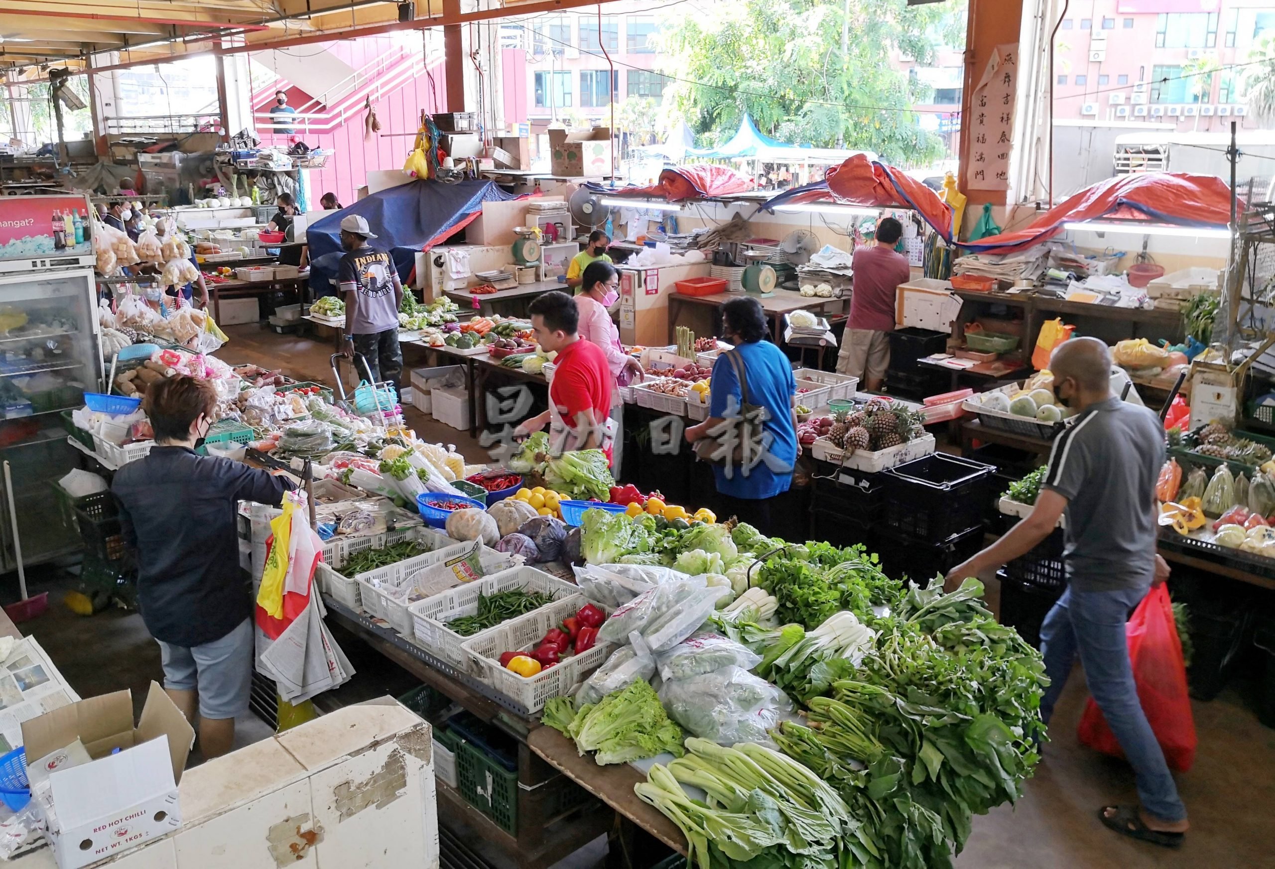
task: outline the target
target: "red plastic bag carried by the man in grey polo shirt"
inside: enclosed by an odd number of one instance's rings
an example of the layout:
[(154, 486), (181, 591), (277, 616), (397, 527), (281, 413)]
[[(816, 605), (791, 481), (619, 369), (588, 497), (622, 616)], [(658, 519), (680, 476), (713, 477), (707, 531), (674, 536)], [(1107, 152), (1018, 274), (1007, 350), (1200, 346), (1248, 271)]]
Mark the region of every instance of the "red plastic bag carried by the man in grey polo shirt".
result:
[[(1195, 720), (1187, 697), (1187, 668), (1182, 661), (1182, 642), (1173, 622), (1169, 590), (1164, 584), (1151, 589), (1125, 626), (1128, 657), (1133, 664), (1137, 698), (1146, 720), (1160, 743), (1170, 770), (1186, 772), (1195, 762)], [(1076, 735), (1082, 745), (1104, 754), (1125, 757), (1116, 735), (1107, 726), (1094, 698), (1089, 698)]]

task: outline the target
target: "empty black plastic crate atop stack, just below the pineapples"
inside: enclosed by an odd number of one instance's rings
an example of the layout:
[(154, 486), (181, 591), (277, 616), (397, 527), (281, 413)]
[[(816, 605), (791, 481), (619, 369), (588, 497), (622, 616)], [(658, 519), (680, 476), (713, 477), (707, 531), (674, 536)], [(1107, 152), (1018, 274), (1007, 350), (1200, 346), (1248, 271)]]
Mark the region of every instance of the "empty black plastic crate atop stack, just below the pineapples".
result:
[(983, 528), (996, 468), (945, 452), (882, 471), (886, 528), (918, 540), (941, 542)]

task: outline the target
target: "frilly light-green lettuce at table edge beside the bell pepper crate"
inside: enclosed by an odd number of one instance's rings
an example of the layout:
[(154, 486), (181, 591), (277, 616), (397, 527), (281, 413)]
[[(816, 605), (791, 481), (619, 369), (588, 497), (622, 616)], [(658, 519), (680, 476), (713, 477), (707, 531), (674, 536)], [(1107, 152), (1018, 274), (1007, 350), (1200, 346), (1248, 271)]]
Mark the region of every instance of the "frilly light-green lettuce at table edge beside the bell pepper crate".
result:
[(686, 735), (669, 720), (655, 689), (645, 679), (611, 692), (595, 705), (581, 706), (579, 712), (570, 700), (556, 697), (544, 705), (541, 722), (574, 739), (581, 754), (597, 752), (594, 759), (599, 766), (629, 763), (664, 752), (681, 757)]

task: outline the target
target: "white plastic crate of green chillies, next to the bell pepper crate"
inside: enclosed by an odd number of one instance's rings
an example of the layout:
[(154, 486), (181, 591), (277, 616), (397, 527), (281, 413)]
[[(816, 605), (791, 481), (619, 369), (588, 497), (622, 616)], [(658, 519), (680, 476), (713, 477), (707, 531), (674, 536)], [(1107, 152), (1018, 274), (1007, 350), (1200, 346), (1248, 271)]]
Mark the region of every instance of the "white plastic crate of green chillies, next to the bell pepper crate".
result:
[(575, 584), (565, 582), (534, 567), (524, 564), (501, 571), (500, 573), (486, 576), (477, 582), (463, 585), (459, 589), (450, 589), (432, 598), (418, 600), (408, 607), (412, 612), (412, 624), (416, 631), (417, 645), (425, 646), (442, 660), (455, 664), (462, 670), (474, 669), (470, 666), (469, 656), (460, 647), (460, 643), (465, 640), (481, 637), (487, 631), (495, 631), (500, 626), (463, 637), (451, 631), (448, 623), (462, 615), (474, 615), (478, 612), (479, 595), (493, 595), (513, 589), (521, 589), (527, 592), (551, 594), (555, 599), (580, 594), (580, 589)]

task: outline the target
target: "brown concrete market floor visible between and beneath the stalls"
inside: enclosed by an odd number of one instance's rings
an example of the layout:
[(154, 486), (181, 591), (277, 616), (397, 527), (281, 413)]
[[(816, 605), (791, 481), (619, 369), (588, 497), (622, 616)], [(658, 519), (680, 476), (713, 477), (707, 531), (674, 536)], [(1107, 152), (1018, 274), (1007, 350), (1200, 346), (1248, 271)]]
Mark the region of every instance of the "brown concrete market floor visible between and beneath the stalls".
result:
[[(277, 366), (298, 380), (330, 382), (329, 344), (277, 336), (254, 326), (227, 329), (231, 344), (219, 356), (235, 362)], [(407, 364), (413, 362), (408, 349)], [(409, 422), (431, 440), (455, 443), (472, 461), (483, 450), (468, 434), (426, 420), (412, 412)], [(17, 598), (14, 577), (5, 577), (5, 601)], [(106, 612), (92, 618), (73, 615), (59, 603), (69, 587), (65, 576), (46, 568), (33, 571), (33, 591), (50, 590), (48, 613), (22, 624), (48, 650), (54, 661), (83, 696), (131, 688), (140, 703), (152, 679), (162, 677), (159, 650), (136, 614)], [(11, 586), (11, 587), (10, 587)], [(996, 604), (996, 589), (988, 590)], [(344, 642), (344, 637), (339, 637)], [(353, 641), (349, 641), (353, 642)], [(397, 670), (380, 661), (386, 684)], [(368, 678), (371, 665), (360, 661)], [(391, 669), (393, 668), (393, 669)], [(1216, 700), (1192, 703), (1198, 750), (1195, 767), (1178, 775), (1182, 798), (1191, 813), (1192, 832), (1181, 851), (1144, 845), (1107, 831), (1096, 819), (1099, 807), (1136, 801), (1132, 773), (1123, 761), (1099, 756), (1076, 742), (1076, 724), (1086, 692), (1081, 673), (1072, 674), (1058, 703), (1044, 762), (1028, 782), (1017, 807), (1001, 807), (974, 821), (974, 832), (959, 869), (1224, 869), (1275, 866), (1275, 730), (1258, 724), (1239, 694), (1228, 689)], [(268, 735), (256, 719), (242, 722), (237, 742)], [(597, 846), (575, 855), (571, 869), (601, 863)]]

